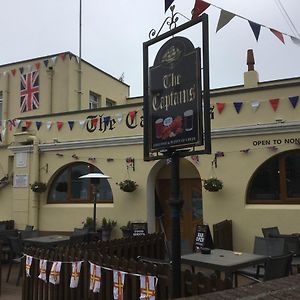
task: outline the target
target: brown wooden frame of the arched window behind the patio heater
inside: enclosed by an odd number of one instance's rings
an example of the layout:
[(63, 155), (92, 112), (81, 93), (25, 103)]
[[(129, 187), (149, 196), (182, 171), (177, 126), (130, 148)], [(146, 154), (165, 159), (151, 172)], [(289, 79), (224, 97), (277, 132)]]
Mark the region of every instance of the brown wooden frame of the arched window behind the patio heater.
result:
[[(74, 162), (70, 163), (68, 165), (65, 165), (60, 170), (56, 172), (56, 174), (53, 175), (53, 179), (51, 181), (49, 192), (47, 195), (47, 204), (91, 204), (94, 203), (94, 195), (93, 195), (93, 185), (91, 183), (91, 179), (82, 179), (87, 181), (87, 196), (86, 198), (75, 198), (72, 194), (72, 170), (74, 170), (74, 167), (78, 167), (80, 165), (83, 165), (84, 167), (87, 167), (89, 169), (89, 172), (97, 172), (102, 173), (101, 170), (99, 170), (96, 166), (86, 163), (86, 162)], [(60, 176), (63, 175), (63, 173), (67, 173), (67, 191), (66, 191), (66, 198), (64, 200), (57, 200), (52, 199), (53, 189), (56, 189), (57, 184), (59, 183), (58, 180)], [(84, 175), (84, 174), (82, 174)], [(81, 175), (80, 175), (81, 176)], [(104, 182), (105, 181), (105, 182)], [(84, 181), (83, 181), (84, 183)], [(110, 192), (111, 192), (111, 199), (96, 199), (97, 204), (106, 204), (106, 203), (113, 203), (113, 193), (111, 185), (109, 184), (109, 181), (107, 179), (100, 180), (100, 186), (102, 185), (109, 185)], [(101, 191), (101, 188), (100, 188)], [(101, 195), (101, 193), (99, 193)]]

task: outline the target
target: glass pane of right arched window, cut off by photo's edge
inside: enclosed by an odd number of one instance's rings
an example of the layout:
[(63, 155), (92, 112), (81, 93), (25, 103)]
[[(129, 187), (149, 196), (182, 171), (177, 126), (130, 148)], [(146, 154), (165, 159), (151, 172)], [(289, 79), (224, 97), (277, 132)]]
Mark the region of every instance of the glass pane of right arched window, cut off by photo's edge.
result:
[(300, 198), (300, 154), (289, 154), (285, 159), (288, 198)]

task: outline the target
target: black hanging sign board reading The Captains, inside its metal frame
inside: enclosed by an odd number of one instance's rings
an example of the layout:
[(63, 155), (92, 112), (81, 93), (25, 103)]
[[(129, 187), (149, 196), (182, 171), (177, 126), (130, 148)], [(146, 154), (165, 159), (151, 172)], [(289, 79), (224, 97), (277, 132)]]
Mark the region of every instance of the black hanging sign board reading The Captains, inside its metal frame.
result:
[(173, 37), (149, 72), (150, 151), (203, 145), (200, 49)]

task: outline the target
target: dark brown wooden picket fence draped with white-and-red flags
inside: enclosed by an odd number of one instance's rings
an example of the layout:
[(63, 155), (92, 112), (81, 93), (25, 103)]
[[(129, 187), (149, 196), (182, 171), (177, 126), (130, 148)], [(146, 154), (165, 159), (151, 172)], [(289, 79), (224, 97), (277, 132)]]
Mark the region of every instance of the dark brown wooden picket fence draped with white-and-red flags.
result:
[[(150, 245), (150, 241), (152, 244)], [(129, 239), (113, 240), (56, 248), (52, 250), (27, 248), (25, 253), (33, 257), (30, 277), (23, 276), (23, 300), (112, 300), (113, 275), (112, 270), (126, 273), (124, 282), (124, 298), (140, 299), (140, 275), (153, 275), (158, 278), (156, 299), (170, 299), (171, 265), (150, 264), (135, 260), (136, 256), (162, 258), (161, 236), (148, 235)], [(38, 278), (39, 261), (47, 259), (47, 279), (53, 261), (61, 261), (60, 283), (53, 285)], [(70, 288), (71, 263), (83, 261), (79, 284)], [(90, 262), (99, 265), (101, 271), (101, 288), (99, 293), (90, 291)], [(25, 268), (25, 258), (23, 259)], [(182, 296), (199, 295), (223, 290), (231, 287), (231, 282), (222, 281), (216, 277), (208, 278), (201, 273), (182, 272)]]

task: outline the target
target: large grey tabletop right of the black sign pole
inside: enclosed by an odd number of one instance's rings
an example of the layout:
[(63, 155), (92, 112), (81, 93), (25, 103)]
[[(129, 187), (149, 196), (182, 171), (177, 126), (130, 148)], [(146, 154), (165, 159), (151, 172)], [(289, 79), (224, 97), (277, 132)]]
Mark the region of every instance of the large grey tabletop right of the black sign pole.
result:
[(224, 272), (225, 277), (232, 279), (232, 274), (238, 269), (264, 263), (267, 258), (266, 255), (212, 249), (210, 254), (196, 252), (182, 255), (181, 263), (211, 269), (219, 275)]

